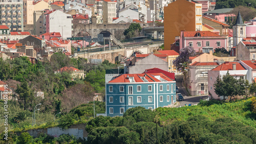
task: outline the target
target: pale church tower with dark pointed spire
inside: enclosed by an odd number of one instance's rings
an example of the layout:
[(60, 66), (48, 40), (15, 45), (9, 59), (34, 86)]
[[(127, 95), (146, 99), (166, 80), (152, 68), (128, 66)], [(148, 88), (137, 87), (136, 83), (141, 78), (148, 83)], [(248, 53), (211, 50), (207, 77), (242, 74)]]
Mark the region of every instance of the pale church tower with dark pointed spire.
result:
[(238, 11), (236, 23), (233, 25), (233, 46), (236, 46), (243, 38), (246, 38), (246, 25), (244, 25), (240, 11)]

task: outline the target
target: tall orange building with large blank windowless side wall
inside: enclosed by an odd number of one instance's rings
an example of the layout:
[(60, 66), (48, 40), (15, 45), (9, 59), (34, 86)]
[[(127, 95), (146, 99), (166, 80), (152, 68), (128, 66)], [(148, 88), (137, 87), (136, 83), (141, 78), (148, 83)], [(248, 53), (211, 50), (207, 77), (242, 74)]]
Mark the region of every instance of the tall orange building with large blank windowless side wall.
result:
[(202, 31), (202, 4), (177, 0), (164, 8), (164, 50), (170, 50), (180, 31)]

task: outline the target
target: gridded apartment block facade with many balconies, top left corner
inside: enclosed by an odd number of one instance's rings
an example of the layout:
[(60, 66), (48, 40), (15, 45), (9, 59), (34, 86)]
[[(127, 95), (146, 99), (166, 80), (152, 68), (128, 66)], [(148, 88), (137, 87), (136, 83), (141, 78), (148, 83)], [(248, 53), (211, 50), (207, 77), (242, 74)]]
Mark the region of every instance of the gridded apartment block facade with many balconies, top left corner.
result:
[(2, 1), (0, 3), (0, 8), (0, 25), (8, 26), (11, 32), (23, 32), (23, 1)]

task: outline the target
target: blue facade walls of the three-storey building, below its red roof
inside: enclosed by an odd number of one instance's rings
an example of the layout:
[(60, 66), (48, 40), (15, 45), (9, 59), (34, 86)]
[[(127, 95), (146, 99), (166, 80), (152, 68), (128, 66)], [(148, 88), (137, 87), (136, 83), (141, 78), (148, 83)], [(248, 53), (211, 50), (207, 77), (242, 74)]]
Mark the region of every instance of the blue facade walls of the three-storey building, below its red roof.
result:
[[(169, 90), (167, 90), (167, 85), (169, 85)], [(110, 88), (110, 86), (112, 88)], [(120, 91), (120, 89), (122, 90), (120, 86), (123, 86), (123, 91)], [(129, 93), (129, 87), (131, 86), (132, 94)], [(138, 86), (140, 88), (138, 88)], [(148, 86), (152, 86), (151, 91), (148, 90)], [(162, 90), (160, 90), (160, 87), (162, 87)], [(110, 89), (112, 89), (112, 91), (110, 91)], [(167, 101), (167, 96), (169, 96), (169, 101)], [(130, 103), (129, 99), (132, 100)], [(108, 116), (122, 116), (123, 113), (120, 113), (122, 112), (120, 108), (123, 108), (123, 112), (137, 106), (145, 107), (146, 109), (155, 109), (157, 107), (171, 105), (172, 103), (174, 104), (175, 102), (176, 82), (106, 83), (106, 114)], [(110, 108), (113, 108), (113, 113), (110, 113)]]

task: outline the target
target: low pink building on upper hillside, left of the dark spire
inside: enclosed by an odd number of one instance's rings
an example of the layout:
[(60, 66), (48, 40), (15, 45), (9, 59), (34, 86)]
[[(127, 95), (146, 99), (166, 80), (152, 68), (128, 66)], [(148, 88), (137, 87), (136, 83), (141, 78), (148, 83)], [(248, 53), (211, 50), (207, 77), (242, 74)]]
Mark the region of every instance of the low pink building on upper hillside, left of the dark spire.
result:
[(231, 10), (232, 10), (231, 8), (217, 9), (217, 10), (205, 12), (203, 13), (203, 15), (225, 23), (229, 19), (233, 21), (233, 19), (236, 18), (235, 14), (227, 14)]

